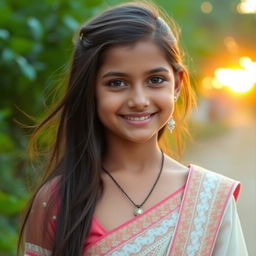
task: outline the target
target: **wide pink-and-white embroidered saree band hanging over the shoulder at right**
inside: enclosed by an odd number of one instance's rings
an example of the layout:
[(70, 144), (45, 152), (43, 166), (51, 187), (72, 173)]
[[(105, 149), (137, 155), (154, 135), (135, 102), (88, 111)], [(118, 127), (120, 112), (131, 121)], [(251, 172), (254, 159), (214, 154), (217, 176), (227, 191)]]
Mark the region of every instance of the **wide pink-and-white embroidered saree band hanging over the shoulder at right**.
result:
[(227, 200), (238, 183), (198, 166), (190, 175), (169, 255), (209, 256)]

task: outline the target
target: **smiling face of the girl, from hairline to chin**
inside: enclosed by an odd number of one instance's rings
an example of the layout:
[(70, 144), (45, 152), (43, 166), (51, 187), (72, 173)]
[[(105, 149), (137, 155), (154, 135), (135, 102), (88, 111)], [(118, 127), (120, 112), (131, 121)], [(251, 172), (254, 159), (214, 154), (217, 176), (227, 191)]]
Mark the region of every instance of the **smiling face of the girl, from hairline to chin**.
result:
[(154, 42), (109, 49), (96, 78), (97, 111), (107, 138), (157, 140), (174, 111), (179, 84), (175, 88), (173, 69)]

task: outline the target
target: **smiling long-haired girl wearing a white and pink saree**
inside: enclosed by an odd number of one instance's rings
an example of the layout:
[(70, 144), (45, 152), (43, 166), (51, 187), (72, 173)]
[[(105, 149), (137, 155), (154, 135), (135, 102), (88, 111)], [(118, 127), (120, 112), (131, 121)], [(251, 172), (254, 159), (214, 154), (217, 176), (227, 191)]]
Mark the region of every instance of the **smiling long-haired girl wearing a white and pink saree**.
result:
[(160, 15), (127, 3), (81, 28), (66, 94), (36, 129), (58, 121), (23, 223), (25, 255), (247, 255), (239, 183), (161, 147), (169, 126), (180, 148), (194, 98)]

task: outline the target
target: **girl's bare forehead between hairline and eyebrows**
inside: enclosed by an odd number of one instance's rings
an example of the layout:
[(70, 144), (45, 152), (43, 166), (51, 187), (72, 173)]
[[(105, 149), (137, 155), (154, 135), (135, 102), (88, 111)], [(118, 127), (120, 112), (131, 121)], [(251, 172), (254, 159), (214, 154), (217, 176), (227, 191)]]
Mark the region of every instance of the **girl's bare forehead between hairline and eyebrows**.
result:
[(172, 69), (163, 50), (152, 41), (138, 41), (132, 45), (121, 45), (107, 50), (99, 75), (109, 70), (137, 73), (163, 66)]

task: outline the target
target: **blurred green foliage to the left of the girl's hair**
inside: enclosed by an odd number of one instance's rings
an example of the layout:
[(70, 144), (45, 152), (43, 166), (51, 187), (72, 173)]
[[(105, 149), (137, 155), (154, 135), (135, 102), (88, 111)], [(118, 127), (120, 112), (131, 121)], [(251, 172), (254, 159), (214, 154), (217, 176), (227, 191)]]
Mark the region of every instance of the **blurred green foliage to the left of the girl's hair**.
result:
[[(31, 125), (47, 104), (56, 70), (64, 72), (72, 36), (101, 1), (2, 0), (0, 2), (0, 255), (15, 255), (18, 214), (38, 176), (27, 156)], [(62, 67), (63, 66), (63, 67)], [(20, 109), (22, 111), (20, 111)], [(17, 122), (16, 122), (17, 121)]]

